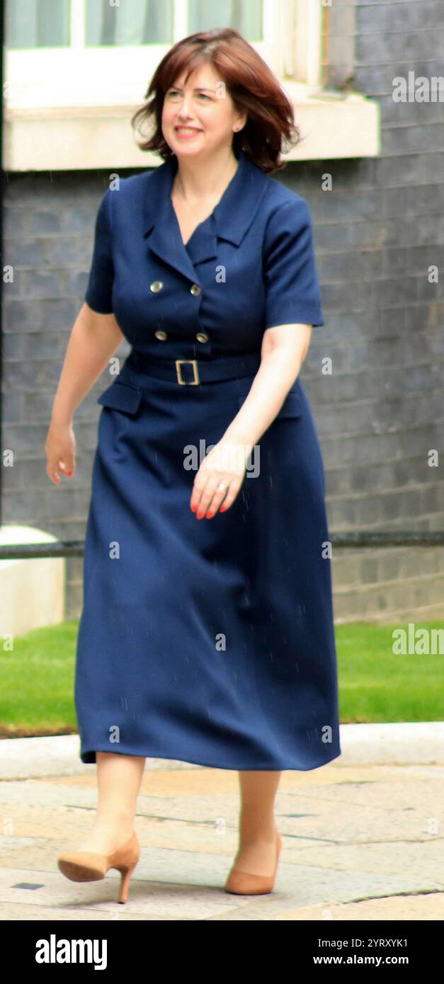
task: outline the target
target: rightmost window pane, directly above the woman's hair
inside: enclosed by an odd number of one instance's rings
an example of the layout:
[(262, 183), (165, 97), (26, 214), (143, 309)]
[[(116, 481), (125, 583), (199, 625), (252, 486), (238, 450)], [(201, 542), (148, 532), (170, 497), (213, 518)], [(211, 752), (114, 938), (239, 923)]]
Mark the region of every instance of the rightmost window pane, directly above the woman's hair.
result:
[(235, 28), (247, 41), (262, 40), (262, 0), (189, 0), (189, 33), (212, 28)]

